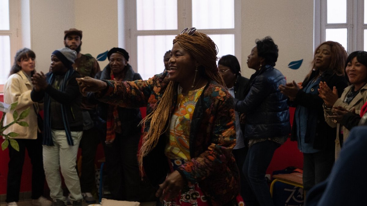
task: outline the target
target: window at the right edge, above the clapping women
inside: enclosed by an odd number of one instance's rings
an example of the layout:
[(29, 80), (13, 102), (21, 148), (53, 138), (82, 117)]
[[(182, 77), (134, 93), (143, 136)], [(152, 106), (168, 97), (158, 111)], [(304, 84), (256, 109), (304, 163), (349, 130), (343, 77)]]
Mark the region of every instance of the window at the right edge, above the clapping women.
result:
[(315, 47), (337, 41), (350, 53), (367, 50), (367, 0), (315, 0)]

